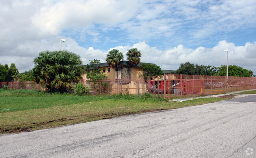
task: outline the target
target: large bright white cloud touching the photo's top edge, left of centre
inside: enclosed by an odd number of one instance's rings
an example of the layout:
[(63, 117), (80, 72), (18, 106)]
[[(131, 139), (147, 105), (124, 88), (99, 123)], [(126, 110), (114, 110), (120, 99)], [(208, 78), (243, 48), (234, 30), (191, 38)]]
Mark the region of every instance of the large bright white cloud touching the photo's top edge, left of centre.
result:
[(58, 35), (65, 28), (78, 29), (93, 23), (114, 26), (129, 20), (136, 6), (134, 0), (63, 0), (41, 7), (32, 20), (43, 33)]

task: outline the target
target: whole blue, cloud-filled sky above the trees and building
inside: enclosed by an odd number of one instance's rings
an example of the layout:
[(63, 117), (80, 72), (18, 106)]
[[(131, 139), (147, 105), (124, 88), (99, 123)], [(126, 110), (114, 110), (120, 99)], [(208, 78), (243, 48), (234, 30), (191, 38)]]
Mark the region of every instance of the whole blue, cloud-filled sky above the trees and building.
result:
[(237, 65), (256, 74), (255, 0), (0, 0), (0, 64), (19, 72), (42, 51), (68, 50), (83, 64), (111, 49), (141, 62)]

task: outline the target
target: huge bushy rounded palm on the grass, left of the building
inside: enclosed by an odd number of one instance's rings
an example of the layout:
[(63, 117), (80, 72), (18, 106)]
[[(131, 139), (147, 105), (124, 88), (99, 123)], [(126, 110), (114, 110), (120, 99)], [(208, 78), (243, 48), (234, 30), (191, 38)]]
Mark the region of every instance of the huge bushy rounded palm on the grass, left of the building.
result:
[(32, 75), (37, 83), (50, 91), (67, 92), (71, 82), (77, 83), (84, 73), (79, 55), (69, 51), (45, 51), (34, 59)]

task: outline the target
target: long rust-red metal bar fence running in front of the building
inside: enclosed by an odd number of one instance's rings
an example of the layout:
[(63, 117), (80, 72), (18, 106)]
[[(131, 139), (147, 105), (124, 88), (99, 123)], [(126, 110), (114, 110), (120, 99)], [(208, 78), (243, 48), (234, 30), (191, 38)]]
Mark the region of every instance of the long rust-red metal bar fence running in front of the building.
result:
[[(115, 79), (92, 82), (81, 80), (90, 94), (129, 94), (135, 97), (143, 97), (146, 93), (151, 97), (164, 99), (178, 99), (182, 97), (204, 96), (222, 94), (238, 90), (256, 89), (255, 77), (233, 76), (203, 76), (165, 74), (163, 77), (139, 77), (136, 80)], [(6, 83), (0, 83), (0, 88)], [(32, 81), (9, 82), (9, 88), (41, 89), (43, 86)]]

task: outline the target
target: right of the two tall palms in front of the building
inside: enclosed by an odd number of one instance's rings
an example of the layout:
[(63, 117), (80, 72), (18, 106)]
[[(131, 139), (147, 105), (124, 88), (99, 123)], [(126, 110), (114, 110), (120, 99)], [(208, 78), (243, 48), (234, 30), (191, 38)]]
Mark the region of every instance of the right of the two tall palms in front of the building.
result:
[(126, 53), (127, 59), (129, 63), (131, 64), (131, 71), (130, 71), (130, 77), (132, 78), (132, 65), (138, 65), (141, 62), (141, 52), (137, 50), (137, 48), (131, 48)]

